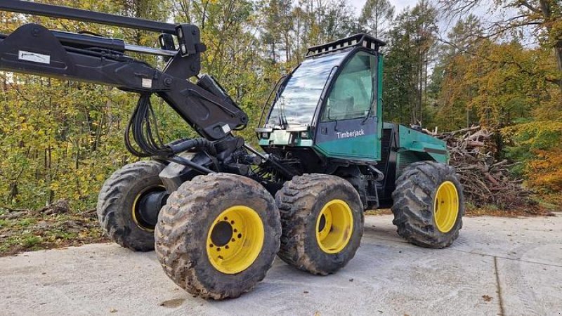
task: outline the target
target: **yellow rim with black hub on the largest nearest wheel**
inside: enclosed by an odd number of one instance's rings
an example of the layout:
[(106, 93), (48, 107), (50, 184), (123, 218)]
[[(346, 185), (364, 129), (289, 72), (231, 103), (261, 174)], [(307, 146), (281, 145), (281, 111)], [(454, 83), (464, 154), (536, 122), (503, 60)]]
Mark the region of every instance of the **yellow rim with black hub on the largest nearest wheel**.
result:
[(207, 235), (207, 255), (220, 272), (234, 275), (258, 258), (265, 232), (259, 214), (247, 206), (233, 206), (215, 218)]

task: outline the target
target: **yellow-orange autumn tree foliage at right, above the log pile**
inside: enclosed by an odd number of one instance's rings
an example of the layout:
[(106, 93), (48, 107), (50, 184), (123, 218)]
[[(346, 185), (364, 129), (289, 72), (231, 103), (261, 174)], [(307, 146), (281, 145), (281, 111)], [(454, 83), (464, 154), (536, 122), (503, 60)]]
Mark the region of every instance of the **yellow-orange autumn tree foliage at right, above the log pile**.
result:
[[(477, 0), (441, 1), (457, 16)], [(445, 40), (436, 79), (436, 121), (444, 129), (479, 123), (501, 131), (500, 154), (543, 192), (562, 188), (562, 7), (550, 0), (497, 0), (512, 16), (483, 27), (472, 16)], [(514, 12), (517, 14), (514, 15)], [(524, 45), (523, 43), (533, 44)], [(438, 88), (436, 88), (438, 87)]]

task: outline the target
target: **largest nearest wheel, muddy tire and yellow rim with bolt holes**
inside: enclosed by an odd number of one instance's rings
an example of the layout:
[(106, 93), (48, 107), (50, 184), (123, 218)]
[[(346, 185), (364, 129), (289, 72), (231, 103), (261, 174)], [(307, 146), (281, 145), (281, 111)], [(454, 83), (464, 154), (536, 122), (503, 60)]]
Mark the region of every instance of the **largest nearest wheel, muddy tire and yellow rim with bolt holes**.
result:
[(190, 294), (236, 298), (266, 276), (279, 249), (273, 197), (254, 180), (215, 173), (174, 192), (159, 215), (156, 254)]

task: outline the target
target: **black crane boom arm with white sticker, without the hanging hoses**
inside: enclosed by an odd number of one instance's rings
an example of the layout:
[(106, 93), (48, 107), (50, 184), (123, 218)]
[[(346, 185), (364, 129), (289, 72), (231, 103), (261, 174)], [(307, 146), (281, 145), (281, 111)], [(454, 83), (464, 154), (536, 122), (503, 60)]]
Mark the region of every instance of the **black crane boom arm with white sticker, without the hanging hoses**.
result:
[[(208, 140), (226, 138), (231, 130), (247, 124), (247, 115), (211, 77), (200, 77), (197, 84), (187, 80), (199, 74), (200, 55), (206, 49), (195, 25), (171, 25), (30, 1), (5, 0), (0, 10), (164, 32), (162, 49), (157, 49), (23, 25), (12, 34), (0, 35), (0, 70), (89, 81), (142, 95), (155, 93)], [(171, 34), (178, 39), (178, 50)], [(164, 70), (157, 70), (125, 55), (126, 51), (171, 58)]]

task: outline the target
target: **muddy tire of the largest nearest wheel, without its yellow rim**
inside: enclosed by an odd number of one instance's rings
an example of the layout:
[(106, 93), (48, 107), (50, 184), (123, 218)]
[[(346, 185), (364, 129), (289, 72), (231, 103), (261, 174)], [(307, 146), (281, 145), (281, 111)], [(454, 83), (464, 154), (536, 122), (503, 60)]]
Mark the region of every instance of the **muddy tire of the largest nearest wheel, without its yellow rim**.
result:
[[(211, 228), (221, 220), (218, 216), (237, 206), (247, 206), (259, 215), (263, 246), (245, 270), (228, 274), (211, 263), (207, 244)], [(262, 185), (243, 176), (214, 173), (193, 178), (169, 197), (155, 230), (156, 254), (166, 274), (190, 294), (215, 300), (236, 298), (266, 277), (279, 250), (280, 235), (279, 211)]]

